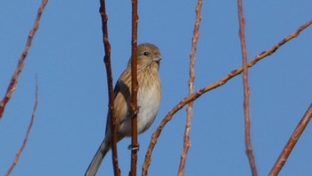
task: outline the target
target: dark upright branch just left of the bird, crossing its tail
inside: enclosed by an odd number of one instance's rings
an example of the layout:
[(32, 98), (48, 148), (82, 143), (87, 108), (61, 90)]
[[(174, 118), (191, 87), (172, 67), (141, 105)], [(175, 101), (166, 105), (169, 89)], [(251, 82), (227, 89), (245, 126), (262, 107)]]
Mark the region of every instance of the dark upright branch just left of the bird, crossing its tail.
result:
[(105, 49), (105, 56), (103, 62), (105, 63), (106, 75), (107, 75), (107, 86), (109, 94), (109, 113), (111, 118), (111, 153), (114, 175), (119, 176), (119, 163), (117, 155), (117, 122), (114, 115), (114, 90), (112, 85), (112, 73), (111, 73), (111, 44), (108, 36), (107, 21), (108, 17), (106, 14), (105, 0), (100, 0), (100, 14), (102, 19), (102, 32), (103, 32), (103, 45)]

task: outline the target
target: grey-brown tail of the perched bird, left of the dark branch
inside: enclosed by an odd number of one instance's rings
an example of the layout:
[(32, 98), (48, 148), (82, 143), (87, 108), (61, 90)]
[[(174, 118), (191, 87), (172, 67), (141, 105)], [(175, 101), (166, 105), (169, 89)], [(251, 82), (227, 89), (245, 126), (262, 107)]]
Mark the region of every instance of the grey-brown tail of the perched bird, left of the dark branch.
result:
[(104, 156), (109, 151), (110, 147), (105, 143), (105, 140), (103, 140), (101, 146), (97, 150), (96, 154), (94, 155), (94, 158), (92, 159), (92, 162), (90, 163), (89, 167), (86, 170), (85, 176), (94, 176), (97, 170), (99, 169)]

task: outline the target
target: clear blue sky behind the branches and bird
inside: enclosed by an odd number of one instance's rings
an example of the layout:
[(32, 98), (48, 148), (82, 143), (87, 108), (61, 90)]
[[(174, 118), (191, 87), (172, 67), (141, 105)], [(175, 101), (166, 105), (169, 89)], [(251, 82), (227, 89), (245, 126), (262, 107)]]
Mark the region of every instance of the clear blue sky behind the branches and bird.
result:
[[(41, 1), (0, 2), (0, 95), (4, 96)], [(312, 2), (243, 1), (251, 60), (311, 20)], [(114, 82), (131, 53), (130, 1), (107, 2)], [(138, 175), (152, 132), (187, 96), (188, 63), (196, 1), (139, 2), (139, 43), (160, 47), (163, 97), (150, 130), (139, 137)], [(0, 122), (0, 175), (12, 163), (29, 125), (38, 78), (39, 105), (29, 142), (12, 175), (83, 175), (100, 145), (107, 86), (98, 1), (50, 1), (29, 51), (19, 85)], [(196, 53), (195, 88), (220, 80), (242, 65), (236, 1), (204, 1)], [(251, 136), (259, 175), (267, 175), (312, 97), (312, 28), (250, 69)], [(250, 175), (245, 155), (242, 77), (194, 103), (192, 146), (185, 175)], [(162, 131), (150, 175), (177, 175), (185, 109)], [(311, 124), (281, 175), (312, 174)], [(122, 175), (129, 171), (130, 139), (119, 142)], [(112, 175), (111, 153), (99, 175)]]

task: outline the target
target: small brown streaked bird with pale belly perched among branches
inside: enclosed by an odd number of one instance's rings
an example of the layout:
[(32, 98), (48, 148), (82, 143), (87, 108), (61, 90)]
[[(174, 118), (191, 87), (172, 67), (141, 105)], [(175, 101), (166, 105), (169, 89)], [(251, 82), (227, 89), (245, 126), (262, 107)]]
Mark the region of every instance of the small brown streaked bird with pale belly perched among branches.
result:
[[(161, 54), (157, 46), (149, 43), (137, 46), (137, 133), (148, 130), (160, 108), (161, 82), (160, 60)], [(131, 58), (127, 68), (123, 71), (114, 88), (114, 116), (117, 122), (117, 141), (131, 137)], [(105, 137), (101, 146), (89, 164), (85, 176), (94, 176), (99, 169), (104, 156), (111, 149), (111, 117), (107, 115)]]

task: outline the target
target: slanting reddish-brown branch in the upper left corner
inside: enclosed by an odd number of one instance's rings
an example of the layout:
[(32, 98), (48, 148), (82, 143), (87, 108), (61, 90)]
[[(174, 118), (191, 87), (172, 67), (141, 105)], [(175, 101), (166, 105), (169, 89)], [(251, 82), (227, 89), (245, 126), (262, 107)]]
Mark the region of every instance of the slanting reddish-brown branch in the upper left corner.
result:
[(23, 69), (26, 56), (27, 56), (27, 54), (29, 54), (29, 48), (31, 46), (32, 40), (33, 40), (33, 38), (37, 32), (37, 29), (39, 28), (39, 22), (41, 19), (41, 15), (45, 10), (45, 5), (47, 4), (47, 2), (48, 2), (48, 0), (42, 0), (42, 3), (38, 8), (35, 24), (34, 24), (33, 28), (29, 31), (29, 38), (27, 39), (24, 51), (22, 52), (22, 54), (20, 56), (19, 63), (17, 65), (17, 68), (16, 68), (14, 74), (12, 75), (12, 79), (10, 81), (9, 87), (6, 90), (4, 98), (0, 102), (0, 119), (2, 118), (2, 116), (4, 114), (5, 105), (11, 99), (13, 92), (17, 88), (17, 81), (19, 80), (19, 75)]

